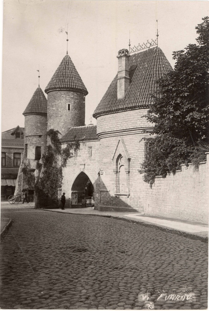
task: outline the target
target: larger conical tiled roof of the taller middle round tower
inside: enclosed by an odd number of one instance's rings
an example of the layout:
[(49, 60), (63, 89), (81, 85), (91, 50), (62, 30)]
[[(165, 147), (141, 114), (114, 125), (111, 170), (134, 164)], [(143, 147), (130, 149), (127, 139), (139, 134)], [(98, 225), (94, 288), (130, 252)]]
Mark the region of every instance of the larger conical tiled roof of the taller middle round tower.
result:
[(88, 94), (88, 91), (68, 54), (66, 54), (61, 61), (59, 67), (49, 81), (45, 92), (48, 94), (50, 91), (57, 89), (72, 91), (79, 90), (85, 95)]

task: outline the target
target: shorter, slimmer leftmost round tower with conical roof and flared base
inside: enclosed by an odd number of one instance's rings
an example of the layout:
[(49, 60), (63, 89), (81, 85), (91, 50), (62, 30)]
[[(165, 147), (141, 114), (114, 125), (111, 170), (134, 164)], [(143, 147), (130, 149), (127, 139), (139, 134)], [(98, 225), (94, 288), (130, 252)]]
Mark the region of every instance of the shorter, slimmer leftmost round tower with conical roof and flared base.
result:
[[(33, 193), (37, 178), (37, 163), (47, 147), (47, 99), (38, 86), (23, 112), (25, 117), (24, 153), (20, 164), (15, 195), (27, 189)], [(27, 177), (25, 170), (30, 174)]]

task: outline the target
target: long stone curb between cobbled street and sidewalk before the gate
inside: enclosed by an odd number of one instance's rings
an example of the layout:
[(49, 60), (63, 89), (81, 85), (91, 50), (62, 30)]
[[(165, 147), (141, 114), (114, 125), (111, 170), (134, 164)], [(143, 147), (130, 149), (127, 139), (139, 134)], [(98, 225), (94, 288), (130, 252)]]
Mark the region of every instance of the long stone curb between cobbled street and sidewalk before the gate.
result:
[[(39, 209), (37, 209), (39, 210)], [(112, 218), (112, 219), (117, 219), (117, 220), (123, 220), (123, 221), (127, 221), (130, 222), (132, 224), (137, 224), (137, 225), (142, 225), (148, 228), (154, 228), (160, 231), (164, 231), (167, 233), (172, 233), (172, 234), (177, 234), (179, 236), (183, 236), (184, 238), (189, 238), (192, 240), (199, 240), (203, 243), (207, 243), (208, 244), (208, 237), (203, 237), (200, 236), (198, 234), (192, 234), (189, 232), (185, 232), (185, 231), (181, 231), (181, 230), (176, 230), (176, 229), (171, 229), (171, 228), (166, 228), (160, 225), (155, 225), (155, 224), (151, 224), (148, 222), (143, 222), (143, 221), (139, 221), (139, 220), (132, 220), (132, 219), (128, 219), (128, 218), (124, 218), (124, 217), (119, 217), (119, 216), (111, 216), (111, 215), (98, 215), (98, 214), (81, 214), (81, 213), (70, 213), (70, 212), (65, 212), (63, 213), (62, 211), (52, 211), (49, 209), (40, 209), (41, 211), (49, 211), (49, 212), (55, 212), (55, 213), (62, 213), (62, 214), (71, 214), (71, 215), (83, 215), (83, 216), (99, 216), (99, 217), (106, 217), (106, 218)]]

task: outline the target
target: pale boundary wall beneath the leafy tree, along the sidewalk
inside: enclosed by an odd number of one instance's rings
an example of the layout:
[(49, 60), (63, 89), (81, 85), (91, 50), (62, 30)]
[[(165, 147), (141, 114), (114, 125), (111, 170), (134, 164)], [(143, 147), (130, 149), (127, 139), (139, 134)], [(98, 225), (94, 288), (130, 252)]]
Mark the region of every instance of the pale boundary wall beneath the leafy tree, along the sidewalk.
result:
[(208, 156), (198, 170), (182, 165), (175, 175), (155, 178), (144, 194), (145, 214), (208, 223)]

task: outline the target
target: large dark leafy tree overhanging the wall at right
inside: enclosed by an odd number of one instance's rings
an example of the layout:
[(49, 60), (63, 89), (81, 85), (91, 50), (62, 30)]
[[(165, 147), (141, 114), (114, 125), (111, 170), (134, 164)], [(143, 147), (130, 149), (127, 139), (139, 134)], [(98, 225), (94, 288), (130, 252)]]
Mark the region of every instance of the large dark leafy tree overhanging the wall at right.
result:
[(173, 53), (174, 71), (158, 80), (149, 122), (155, 123), (149, 151), (139, 172), (153, 182), (155, 175), (175, 172), (180, 164), (204, 160), (208, 151), (209, 17), (196, 29), (198, 44)]

